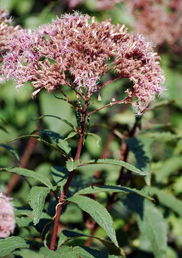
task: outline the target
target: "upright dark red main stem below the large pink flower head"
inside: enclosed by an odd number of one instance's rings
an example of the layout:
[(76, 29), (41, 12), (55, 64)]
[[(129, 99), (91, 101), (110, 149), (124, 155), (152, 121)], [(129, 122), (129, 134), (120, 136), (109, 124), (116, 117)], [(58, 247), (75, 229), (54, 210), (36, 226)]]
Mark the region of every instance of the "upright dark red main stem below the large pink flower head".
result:
[[(83, 109), (83, 111), (81, 111), (81, 113), (82, 113), (82, 121), (81, 121), (81, 128), (80, 128), (81, 130), (79, 132), (79, 142), (78, 142), (77, 153), (75, 156), (75, 161), (80, 158), (80, 154), (81, 154), (81, 148), (82, 148), (82, 143), (83, 143), (83, 133), (84, 133), (84, 129), (85, 129), (85, 119), (86, 119), (86, 115), (87, 115), (87, 108), (88, 108), (88, 101), (85, 100), (84, 109)], [(68, 191), (68, 188), (70, 186), (70, 183), (71, 183), (74, 173), (75, 173), (75, 169), (70, 172), (68, 180), (66, 181), (64, 189), (59, 198), (60, 205), (57, 206), (56, 217), (54, 219), (54, 226), (53, 226), (53, 230), (52, 230), (52, 238), (51, 238), (51, 242), (50, 242), (50, 250), (52, 250), (52, 251), (54, 251), (54, 248), (55, 248), (62, 205), (64, 203), (64, 198), (66, 196), (66, 193)]]

